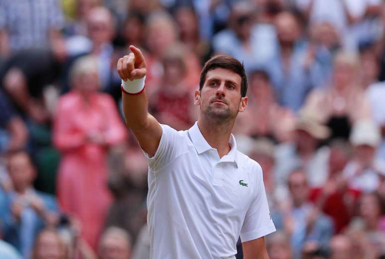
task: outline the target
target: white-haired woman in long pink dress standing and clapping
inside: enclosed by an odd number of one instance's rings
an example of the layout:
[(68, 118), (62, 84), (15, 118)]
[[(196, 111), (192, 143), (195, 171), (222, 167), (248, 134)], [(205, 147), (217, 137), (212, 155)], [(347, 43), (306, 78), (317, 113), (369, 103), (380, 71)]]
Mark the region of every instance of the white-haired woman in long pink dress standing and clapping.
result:
[(57, 196), (95, 249), (111, 202), (106, 154), (126, 138), (127, 130), (112, 98), (98, 92), (94, 57), (80, 58), (70, 77), (72, 91), (60, 97), (54, 126), (54, 142), (62, 153)]

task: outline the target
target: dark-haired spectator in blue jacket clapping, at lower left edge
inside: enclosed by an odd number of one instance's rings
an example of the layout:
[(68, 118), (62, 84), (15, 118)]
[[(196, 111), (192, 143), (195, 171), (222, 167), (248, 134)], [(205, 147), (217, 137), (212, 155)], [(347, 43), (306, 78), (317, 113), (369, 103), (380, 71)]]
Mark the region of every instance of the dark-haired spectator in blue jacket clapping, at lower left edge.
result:
[(27, 258), (39, 230), (54, 223), (57, 204), (53, 197), (33, 188), (36, 169), (28, 153), (12, 152), (7, 168), (13, 190), (5, 193), (4, 204), (0, 205), (3, 238)]

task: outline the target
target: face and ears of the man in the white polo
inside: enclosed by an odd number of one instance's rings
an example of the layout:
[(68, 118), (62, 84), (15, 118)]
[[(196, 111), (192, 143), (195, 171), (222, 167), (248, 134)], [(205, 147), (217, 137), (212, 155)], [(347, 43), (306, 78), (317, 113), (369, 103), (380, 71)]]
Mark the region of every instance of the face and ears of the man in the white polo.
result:
[(220, 121), (235, 119), (246, 109), (247, 97), (241, 97), (241, 77), (230, 70), (215, 68), (206, 74), (202, 90), (195, 91), (200, 113)]

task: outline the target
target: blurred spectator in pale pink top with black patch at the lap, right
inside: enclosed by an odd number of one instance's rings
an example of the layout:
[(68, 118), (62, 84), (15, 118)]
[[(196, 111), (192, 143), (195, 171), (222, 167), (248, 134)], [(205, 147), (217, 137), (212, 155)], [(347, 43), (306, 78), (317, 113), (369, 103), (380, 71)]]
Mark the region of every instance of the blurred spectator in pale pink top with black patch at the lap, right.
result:
[(357, 78), (359, 69), (355, 54), (339, 52), (334, 59), (331, 85), (313, 90), (302, 107), (303, 113), (331, 128), (331, 138), (348, 139), (354, 122), (371, 117), (369, 102)]

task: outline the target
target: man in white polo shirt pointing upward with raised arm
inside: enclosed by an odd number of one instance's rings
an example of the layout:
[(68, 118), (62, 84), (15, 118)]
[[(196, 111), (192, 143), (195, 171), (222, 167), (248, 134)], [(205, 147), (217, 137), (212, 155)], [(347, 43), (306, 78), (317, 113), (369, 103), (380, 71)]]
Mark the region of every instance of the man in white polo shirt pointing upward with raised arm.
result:
[(130, 50), (117, 70), (126, 125), (149, 162), (150, 258), (234, 259), (239, 235), (245, 259), (268, 258), (264, 236), (275, 227), (262, 169), (231, 134), (248, 101), (242, 64), (222, 55), (207, 61), (195, 91), (198, 121), (176, 131), (148, 113), (146, 61)]

